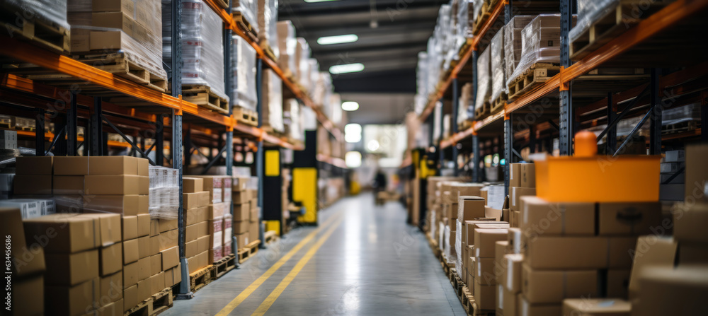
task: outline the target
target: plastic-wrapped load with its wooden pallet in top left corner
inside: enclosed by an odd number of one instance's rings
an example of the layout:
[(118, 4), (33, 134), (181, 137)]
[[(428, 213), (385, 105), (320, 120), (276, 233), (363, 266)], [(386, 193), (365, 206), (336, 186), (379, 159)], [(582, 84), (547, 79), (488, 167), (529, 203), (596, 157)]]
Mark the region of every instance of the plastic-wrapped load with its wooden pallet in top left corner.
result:
[(60, 54), (69, 53), (66, 0), (4, 1), (0, 11), (0, 24), (11, 37), (17, 35)]

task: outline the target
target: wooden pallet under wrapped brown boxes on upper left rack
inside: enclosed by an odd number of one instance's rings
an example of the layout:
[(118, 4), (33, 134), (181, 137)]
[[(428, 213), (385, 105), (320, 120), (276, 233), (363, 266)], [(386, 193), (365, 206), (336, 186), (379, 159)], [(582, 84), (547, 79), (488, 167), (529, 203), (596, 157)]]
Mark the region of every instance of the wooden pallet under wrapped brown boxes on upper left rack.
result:
[(147, 70), (139, 62), (134, 62), (125, 53), (115, 52), (110, 54), (84, 55), (76, 58), (84, 64), (89, 64), (111, 74), (121, 76), (135, 83), (148, 86), (154, 90), (165, 92), (167, 90), (167, 78), (157, 76)]

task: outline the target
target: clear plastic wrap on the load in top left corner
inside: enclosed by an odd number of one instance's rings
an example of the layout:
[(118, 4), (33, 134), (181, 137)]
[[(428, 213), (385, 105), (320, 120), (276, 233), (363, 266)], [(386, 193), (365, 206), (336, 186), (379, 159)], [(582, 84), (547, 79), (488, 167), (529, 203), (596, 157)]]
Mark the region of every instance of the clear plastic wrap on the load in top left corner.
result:
[(16, 12), (17, 17), (34, 16), (40, 21), (56, 23), (62, 28), (69, 28), (67, 0), (4, 0), (3, 6), (3, 10), (16, 9), (18, 11)]

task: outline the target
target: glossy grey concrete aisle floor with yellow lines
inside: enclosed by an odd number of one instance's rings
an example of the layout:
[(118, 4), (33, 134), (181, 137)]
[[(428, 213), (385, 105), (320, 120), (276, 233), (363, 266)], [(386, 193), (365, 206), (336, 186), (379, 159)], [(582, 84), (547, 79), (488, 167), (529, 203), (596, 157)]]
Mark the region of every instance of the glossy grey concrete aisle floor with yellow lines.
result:
[[(163, 315), (466, 315), (425, 236), (406, 225), (401, 204), (374, 206), (372, 195), (362, 194), (320, 211), (319, 223), (293, 230)], [(258, 288), (242, 293), (316, 230)], [(284, 288), (286, 276), (292, 282)]]

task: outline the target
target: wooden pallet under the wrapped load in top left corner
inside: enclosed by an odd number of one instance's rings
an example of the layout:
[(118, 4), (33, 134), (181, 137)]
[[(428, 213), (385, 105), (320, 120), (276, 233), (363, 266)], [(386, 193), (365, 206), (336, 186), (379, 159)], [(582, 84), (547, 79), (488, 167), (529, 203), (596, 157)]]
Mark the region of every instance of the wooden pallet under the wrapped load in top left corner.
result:
[[(11, 37), (17, 35), (60, 54), (69, 52), (71, 32), (67, 28), (51, 21), (41, 21), (36, 15), (30, 18), (23, 18), (21, 13), (24, 11), (13, 6), (0, 6), (0, 23), (6, 33)], [(30, 15), (25, 14), (25, 16)]]

